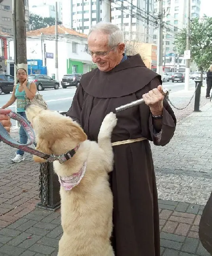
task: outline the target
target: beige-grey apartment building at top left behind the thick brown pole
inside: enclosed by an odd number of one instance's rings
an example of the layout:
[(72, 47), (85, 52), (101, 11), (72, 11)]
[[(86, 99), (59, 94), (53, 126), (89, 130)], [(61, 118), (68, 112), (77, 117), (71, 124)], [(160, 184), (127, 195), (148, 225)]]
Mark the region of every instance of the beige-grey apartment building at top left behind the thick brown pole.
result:
[[(13, 35), (13, 4), (12, 0), (4, 0), (0, 4), (0, 31)], [(29, 30), (29, 0), (24, 0), (25, 3), (25, 20), (26, 29)]]

